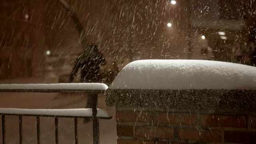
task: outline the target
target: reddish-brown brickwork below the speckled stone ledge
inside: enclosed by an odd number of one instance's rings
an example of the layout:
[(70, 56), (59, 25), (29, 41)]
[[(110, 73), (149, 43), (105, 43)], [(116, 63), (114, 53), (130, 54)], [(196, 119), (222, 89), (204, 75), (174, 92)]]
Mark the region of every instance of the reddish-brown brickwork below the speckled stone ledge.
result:
[(246, 111), (117, 108), (118, 144), (256, 142), (256, 114)]

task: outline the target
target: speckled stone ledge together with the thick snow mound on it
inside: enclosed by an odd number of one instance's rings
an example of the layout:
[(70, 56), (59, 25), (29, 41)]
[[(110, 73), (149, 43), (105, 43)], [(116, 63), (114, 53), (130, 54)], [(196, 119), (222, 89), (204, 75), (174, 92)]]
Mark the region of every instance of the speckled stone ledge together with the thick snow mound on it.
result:
[(138, 60), (106, 91), (116, 108), (256, 110), (256, 68), (207, 60)]

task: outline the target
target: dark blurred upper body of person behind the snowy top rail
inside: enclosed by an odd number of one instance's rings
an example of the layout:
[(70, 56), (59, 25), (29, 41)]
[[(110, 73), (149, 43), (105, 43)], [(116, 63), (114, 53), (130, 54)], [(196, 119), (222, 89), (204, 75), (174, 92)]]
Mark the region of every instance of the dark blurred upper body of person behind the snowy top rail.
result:
[(76, 60), (75, 66), (70, 74), (69, 81), (73, 82), (74, 77), (81, 69), (80, 82), (100, 82), (100, 66), (106, 64), (103, 54), (98, 50), (98, 46), (89, 45)]

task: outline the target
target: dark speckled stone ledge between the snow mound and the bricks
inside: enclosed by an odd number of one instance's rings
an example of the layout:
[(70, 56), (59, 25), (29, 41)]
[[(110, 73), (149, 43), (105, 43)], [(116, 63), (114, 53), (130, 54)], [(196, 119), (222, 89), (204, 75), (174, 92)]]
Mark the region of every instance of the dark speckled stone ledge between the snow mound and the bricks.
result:
[(256, 110), (256, 90), (108, 89), (106, 104), (116, 108)]

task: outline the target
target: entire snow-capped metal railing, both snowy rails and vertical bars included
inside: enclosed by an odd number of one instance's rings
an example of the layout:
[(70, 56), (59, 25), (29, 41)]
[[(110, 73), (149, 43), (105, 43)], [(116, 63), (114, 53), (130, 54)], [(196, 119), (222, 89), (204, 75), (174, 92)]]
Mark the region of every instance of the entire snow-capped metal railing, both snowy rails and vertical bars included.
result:
[(97, 108), (98, 94), (105, 93), (108, 86), (101, 83), (75, 84), (0, 84), (0, 92), (86, 92), (97, 97), (92, 108), (82, 109), (22, 109), (0, 108), (2, 119), (2, 144), (6, 144), (5, 116), (12, 115), (19, 118), (19, 140), (22, 144), (22, 116), (36, 117), (37, 144), (40, 144), (40, 117), (55, 118), (55, 143), (58, 144), (58, 118), (74, 118), (75, 144), (78, 144), (78, 118), (92, 118), (93, 142), (99, 144), (99, 119), (111, 119), (105, 110)]

